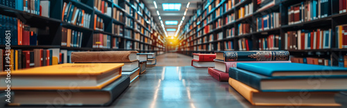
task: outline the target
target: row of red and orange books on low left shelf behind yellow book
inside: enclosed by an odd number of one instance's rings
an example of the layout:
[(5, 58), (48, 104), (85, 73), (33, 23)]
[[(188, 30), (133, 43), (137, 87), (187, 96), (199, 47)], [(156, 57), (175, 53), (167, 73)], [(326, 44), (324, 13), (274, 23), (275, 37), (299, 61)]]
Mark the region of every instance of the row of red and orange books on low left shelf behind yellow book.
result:
[[(6, 55), (4, 49), (0, 49), (0, 71), (5, 71), (9, 64), (11, 70), (29, 69), (38, 66), (50, 66), (71, 62), (71, 52), (59, 48), (34, 48), (33, 50), (10, 49), (10, 55)], [(9, 57), (9, 59), (6, 59)]]

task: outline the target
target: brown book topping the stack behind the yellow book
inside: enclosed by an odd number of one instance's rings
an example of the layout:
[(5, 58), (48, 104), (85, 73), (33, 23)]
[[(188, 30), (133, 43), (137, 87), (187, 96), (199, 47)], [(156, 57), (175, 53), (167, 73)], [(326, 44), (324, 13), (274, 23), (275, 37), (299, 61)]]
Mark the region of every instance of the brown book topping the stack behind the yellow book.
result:
[(71, 62), (134, 62), (137, 51), (83, 51), (71, 53)]

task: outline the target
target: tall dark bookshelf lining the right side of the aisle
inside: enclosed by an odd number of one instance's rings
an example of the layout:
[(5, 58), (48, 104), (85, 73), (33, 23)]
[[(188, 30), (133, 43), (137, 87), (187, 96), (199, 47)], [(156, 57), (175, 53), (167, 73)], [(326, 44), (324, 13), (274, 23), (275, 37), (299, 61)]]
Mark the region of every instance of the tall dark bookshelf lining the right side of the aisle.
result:
[[(347, 24), (345, 20), (346, 12), (339, 12), (339, 0), (329, 0), (330, 15), (311, 19), (310, 21), (301, 21), (296, 24), (289, 24), (288, 11), (291, 6), (305, 0), (276, 0), (273, 6), (261, 8), (257, 0), (205, 0), (198, 3), (198, 9), (194, 10), (194, 16), (189, 18), (180, 31), (178, 39), (178, 53), (192, 56), (192, 53), (214, 53), (215, 51), (260, 51), (260, 50), (285, 50), (289, 51), (292, 57), (318, 57), (330, 60), (331, 66), (338, 66), (341, 57), (346, 55), (346, 48), (339, 48), (337, 45), (336, 26)], [(228, 2), (233, 5), (226, 7)], [(247, 6), (247, 7), (246, 7)], [(252, 6), (253, 8), (249, 8)], [(239, 16), (241, 8), (252, 10), (248, 15)], [(261, 10), (260, 10), (261, 9)], [(221, 11), (221, 12), (220, 12)], [(249, 11), (248, 11), (249, 12)], [(257, 19), (264, 15), (278, 12), (280, 24), (276, 28), (257, 30)], [(230, 17), (231, 16), (231, 17)], [(226, 18), (229, 19), (227, 22)], [(221, 21), (221, 22), (219, 22)], [(250, 29), (246, 33), (239, 33), (244, 28), (240, 24), (249, 24)], [(210, 31), (205, 32), (206, 26), (210, 26)], [(297, 30), (331, 30), (331, 41), (329, 48), (317, 49), (294, 49), (285, 48), (285, 42), (289, 31)], [(232, 32), (230, 32), (232, 31)], [(244, 32), (244, 30), (242, 30)], [(262, 49), (261, 39), (274, 35), (274, 38), (280, 38), (277, 48)], [(286, 38), (287, 37), (287, 38)], [(269, 37), (270, 38), (270, 37)], [(239, 42), (241, 41), (241, 44)], [(249, 49), (244, 49), (242, 42), (251, 42)], [(297, 44), (297, 43), (296, 43)], [(230, 47), (232, 46), (232, 47)], [(288, 47), (288, 46), (287, 46)], [(342, 58), (343, 59), (343, 58)], [(343, 60), (342, 60), (343, 61)]]

